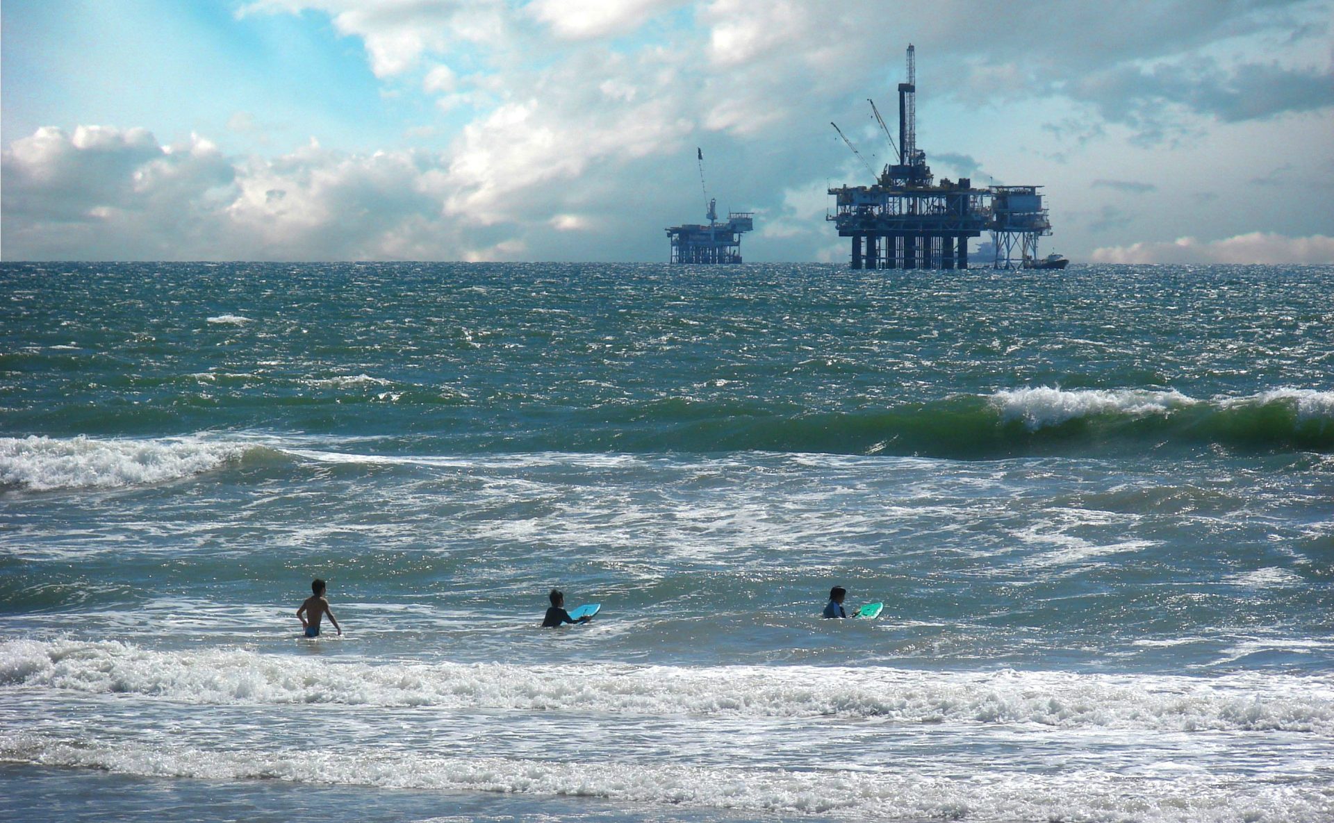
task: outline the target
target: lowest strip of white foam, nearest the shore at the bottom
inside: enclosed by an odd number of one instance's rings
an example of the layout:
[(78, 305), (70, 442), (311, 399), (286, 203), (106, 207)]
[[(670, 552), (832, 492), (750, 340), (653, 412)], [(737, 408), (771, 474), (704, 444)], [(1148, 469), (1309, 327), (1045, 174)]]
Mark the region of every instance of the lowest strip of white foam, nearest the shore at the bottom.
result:
[(831, 814), (882, 820), (1139, 820), (1317, 823), (1334, 814), (1319, 784), (1245, 782), (1177, 770), (1170, 779), (1071, 768), (995, 771), (984, 778), (711, 768), (630, 760), (446, 758), (380, 750), (213, 751), (139, 740), (71, 743), (0, 732), (0, 760), (153, 778), (277, 779), (296, 783), (603, 798), (654, 806)]

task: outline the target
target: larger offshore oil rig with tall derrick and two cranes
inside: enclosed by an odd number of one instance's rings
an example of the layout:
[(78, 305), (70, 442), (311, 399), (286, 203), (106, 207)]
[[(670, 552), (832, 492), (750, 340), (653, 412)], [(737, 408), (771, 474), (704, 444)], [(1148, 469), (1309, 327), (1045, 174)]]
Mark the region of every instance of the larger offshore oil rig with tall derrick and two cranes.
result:
[(916, 147), (916, 60), (908, 44), (907, 83), (899, 83), (899, 139), (871, 112), (898, 155), (879, 175), (836, 123), (843, 143), (875, 177), (874, 185), (828, 189), (840, 237), (852, 239), (852, 268), (967, 268), (968, 237), (990, 231), (995, 268), (1065, 268), (1059, 255), (1038, 259), (1038, 237), (1051, 233), (1039, 185), (974, 188), (968, 177), (934, 181), (926, 152)]

